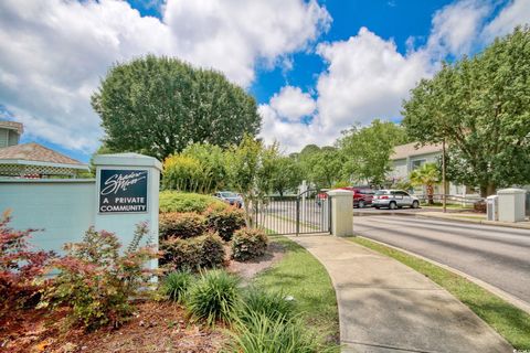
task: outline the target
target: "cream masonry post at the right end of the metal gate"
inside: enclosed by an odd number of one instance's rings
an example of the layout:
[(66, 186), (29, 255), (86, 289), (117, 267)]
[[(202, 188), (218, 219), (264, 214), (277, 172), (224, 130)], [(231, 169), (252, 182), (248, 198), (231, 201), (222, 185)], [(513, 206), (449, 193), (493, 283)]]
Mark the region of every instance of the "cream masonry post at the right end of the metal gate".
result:
[(353, 235), (353, 192), (350, 190), (328, 191), (331, 197), (331, 234)]

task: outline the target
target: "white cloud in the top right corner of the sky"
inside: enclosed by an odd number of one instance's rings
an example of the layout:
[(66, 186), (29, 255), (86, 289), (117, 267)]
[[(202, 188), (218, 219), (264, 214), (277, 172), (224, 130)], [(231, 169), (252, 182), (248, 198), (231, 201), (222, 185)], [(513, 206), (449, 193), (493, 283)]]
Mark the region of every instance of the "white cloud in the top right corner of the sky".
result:
[(530, 23), (530, 2), (528, 0), (513, 0), (490, 23), (483, 32), (483, 40), (491, 42), (496, 36), (510, 33), (516, 25)]

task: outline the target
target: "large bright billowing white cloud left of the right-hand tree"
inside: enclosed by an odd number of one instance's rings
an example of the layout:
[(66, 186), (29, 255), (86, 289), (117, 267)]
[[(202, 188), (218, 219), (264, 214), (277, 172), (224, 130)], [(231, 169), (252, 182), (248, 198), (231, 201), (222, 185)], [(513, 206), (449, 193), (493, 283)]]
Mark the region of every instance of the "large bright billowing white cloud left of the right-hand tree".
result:
[(318, 53), (328, 63), (318, 78), (318, 111), (326, 127), (339, 131), (396, 117), (409, 89), (433, 68), (423, 53), (402, 55), (365, 28), (348, 41), (319, 45)]

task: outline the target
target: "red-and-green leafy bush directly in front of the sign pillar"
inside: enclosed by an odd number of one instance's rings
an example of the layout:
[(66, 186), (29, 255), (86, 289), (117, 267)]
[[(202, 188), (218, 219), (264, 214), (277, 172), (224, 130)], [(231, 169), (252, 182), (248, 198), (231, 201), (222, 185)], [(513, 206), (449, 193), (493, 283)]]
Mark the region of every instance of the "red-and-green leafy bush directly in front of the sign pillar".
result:
[(89, 228), (83, 242), (65, 245), (67, 255), (52, 263), (59, 275), (44, 288), (39, 306), (67, 307), (70, 318), (86, 329), (120, 325), (131, 312), (129, 298), (152, 276), (144, 265), (158, 257), (150, 247), (138, 246), (147, 233), (147, 226), (139, 225), (131, 245), (120, 255), (116, 235)]

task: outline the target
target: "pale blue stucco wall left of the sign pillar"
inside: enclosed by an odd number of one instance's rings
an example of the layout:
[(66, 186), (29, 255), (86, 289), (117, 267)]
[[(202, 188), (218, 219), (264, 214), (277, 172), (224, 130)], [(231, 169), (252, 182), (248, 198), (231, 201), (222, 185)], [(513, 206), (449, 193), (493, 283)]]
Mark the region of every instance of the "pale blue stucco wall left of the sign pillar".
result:
[(31, 240), (36, 247), (61, 252), (94, 224), (95, 191), (94, 180), (0, 181), (0, 212), (11, 208), (15, 229), (43, 229)]

